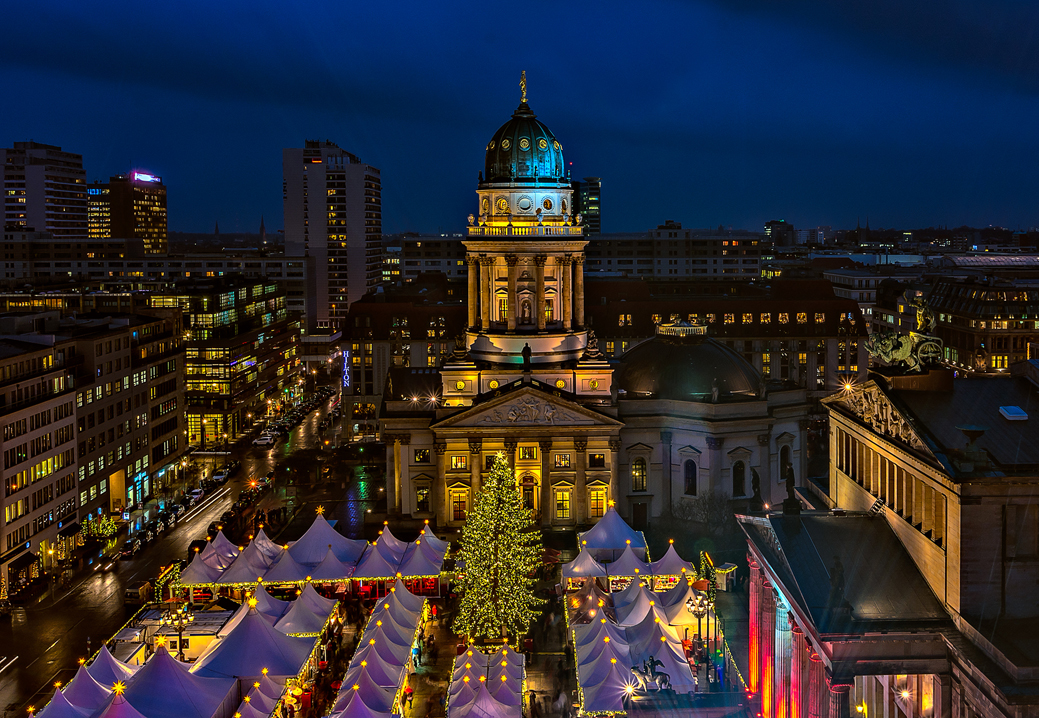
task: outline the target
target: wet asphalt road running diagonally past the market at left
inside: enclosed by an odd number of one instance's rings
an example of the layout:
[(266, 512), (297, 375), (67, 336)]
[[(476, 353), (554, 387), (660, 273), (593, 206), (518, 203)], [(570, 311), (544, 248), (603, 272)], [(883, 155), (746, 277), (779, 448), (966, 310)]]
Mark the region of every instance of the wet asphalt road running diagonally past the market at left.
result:
[[(185, 558), (188, 544), (205, 537), (210, 522), (230, 508), (250, 477), (265, 475), (278, 458), (297, 447), (315, 447), (318, 423), (328, 403), (271, 447), (254, 447), (248, 442), (231, 447), (230, 458), (242, 462), (241, 471), (133, 558), (118, 561), (108, 571), (87, 566), (73, 578), (71, 587), (49, 589), (33, 603), (17, 607), (9, 618), (0, 617), (0, 715), (21, 718), (26, 706), (47, 701), (56, 681), (68, 683), (75, 675), (78, 660), (89, 655), (87, 641), (89, 653), (96, 651), (139, 608), (124, 606), (126, 586), (155, 578), (162, 566)], [(330, 432), (323, 435), (328, 437)], [(206, 457), (205, 461), (220, 466), (222, 459)], [(274, 501), (268, 495), (264, 504)], [(121, 534), (121, 543), (125, 537)]]

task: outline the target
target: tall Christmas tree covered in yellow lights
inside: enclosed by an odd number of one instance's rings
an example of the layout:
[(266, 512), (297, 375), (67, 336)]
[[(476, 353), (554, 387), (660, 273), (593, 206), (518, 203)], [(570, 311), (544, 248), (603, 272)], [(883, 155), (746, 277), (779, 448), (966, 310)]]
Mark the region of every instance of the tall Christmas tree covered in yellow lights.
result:
[(543, 603), (534, 596), (541, 562), (541, 532), (525, 508), (504, 454), (476, 496), (461, 530), (458, 579), (461, 605), (454, 631), (471, 638), (509, 638), (527, 633)]

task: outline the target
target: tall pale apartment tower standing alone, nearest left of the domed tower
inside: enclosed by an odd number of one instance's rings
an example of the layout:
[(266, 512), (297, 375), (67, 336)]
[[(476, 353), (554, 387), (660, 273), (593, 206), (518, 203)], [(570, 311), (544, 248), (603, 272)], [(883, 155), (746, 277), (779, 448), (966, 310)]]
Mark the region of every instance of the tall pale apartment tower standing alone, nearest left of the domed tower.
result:
[(382, 183), (379, 170), (328, 140), (282, 151), (285, 255), (305, 257), (307, 331), (341, 328), (350, 302), (379, 281)]

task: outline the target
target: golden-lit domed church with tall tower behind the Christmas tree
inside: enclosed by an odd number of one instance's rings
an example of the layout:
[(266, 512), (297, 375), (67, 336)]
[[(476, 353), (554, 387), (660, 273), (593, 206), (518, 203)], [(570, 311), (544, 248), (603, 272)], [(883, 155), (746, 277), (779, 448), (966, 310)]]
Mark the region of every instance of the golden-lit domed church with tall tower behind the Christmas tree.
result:
[(641, 529), (718, 494), (781, 502), (805, 477), (805, 390), (764, 381), (684, 321), (603, 355), (585, 325), (588, 240), (563, 147), (521, 87), (469, 215), (464, 337), (441, 367), (388, 375), (389, 510), (461, 526), (499, 452), (545, 528), (593, 524), (611, 505)]

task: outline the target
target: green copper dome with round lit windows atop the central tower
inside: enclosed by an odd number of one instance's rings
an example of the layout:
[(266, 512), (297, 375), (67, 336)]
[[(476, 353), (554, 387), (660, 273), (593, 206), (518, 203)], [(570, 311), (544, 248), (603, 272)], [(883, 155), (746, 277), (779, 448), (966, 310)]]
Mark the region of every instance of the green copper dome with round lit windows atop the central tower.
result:
[(562, 145), (526, 101), (487, 142), (483, 181), (568, 184)]

